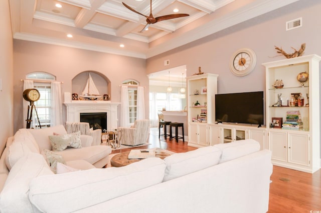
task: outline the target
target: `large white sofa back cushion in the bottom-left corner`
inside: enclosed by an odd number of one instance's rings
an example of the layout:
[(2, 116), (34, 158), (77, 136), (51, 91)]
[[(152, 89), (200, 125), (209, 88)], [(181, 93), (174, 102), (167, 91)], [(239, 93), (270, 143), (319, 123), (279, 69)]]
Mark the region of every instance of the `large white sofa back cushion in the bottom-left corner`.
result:
[(41, 154), (30, 152), (21, 157), (10, 170), (0, 193), (0, 212), (34, 212), (28, 198), (29, 182), (46, 174), (53, 172)]

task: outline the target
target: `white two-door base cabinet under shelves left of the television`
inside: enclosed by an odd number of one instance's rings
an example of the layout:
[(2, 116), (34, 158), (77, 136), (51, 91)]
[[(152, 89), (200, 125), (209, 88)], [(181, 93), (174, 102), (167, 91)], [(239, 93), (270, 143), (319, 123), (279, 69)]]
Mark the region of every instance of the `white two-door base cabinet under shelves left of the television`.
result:
[(209, 145), (206, 123), (189, 123), (189, 145), (202, 147)]

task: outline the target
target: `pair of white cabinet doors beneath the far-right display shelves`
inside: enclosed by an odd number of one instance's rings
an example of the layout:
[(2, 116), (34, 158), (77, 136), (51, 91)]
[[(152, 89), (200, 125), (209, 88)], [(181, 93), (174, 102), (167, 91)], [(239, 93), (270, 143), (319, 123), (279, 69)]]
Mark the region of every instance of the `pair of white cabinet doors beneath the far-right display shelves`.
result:
[(292, 168), (309, 166), (309, 135), (285, 131), (269, 132), (272, 162)]

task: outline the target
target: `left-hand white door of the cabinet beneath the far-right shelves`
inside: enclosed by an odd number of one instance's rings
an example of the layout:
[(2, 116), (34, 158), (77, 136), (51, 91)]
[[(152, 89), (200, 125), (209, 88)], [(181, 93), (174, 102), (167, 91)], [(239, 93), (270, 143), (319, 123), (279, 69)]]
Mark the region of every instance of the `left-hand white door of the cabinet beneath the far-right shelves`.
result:
[(269, 141), (272, 159), (287, 161), (286, 132), (270, 131)]

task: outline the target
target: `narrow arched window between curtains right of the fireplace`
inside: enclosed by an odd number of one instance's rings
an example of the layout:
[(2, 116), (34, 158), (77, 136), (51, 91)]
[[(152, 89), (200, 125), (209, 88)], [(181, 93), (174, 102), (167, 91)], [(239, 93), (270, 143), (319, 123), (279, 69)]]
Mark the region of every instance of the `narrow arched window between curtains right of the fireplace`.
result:
[(129, 122), (132, 124), (137, 118), (137, 86), (139, 83), (136, 80), (127, 79), (122, 84), (128, 84)]

